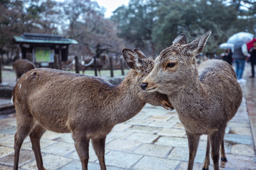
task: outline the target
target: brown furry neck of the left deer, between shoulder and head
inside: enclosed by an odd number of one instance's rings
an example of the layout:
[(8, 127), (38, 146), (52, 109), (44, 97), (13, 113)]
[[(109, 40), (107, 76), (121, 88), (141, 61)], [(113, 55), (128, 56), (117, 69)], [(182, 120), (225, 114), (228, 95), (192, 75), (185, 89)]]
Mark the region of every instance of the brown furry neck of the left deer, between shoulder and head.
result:
[(145, 102), (139, 98), (139, 91), (135, 86), (137, 82), (134, 82), (134, 76), (132, 76), (132, 70), (127, 74), (121, 84), (114, 87), (114, 112), (111, 113), (111, 122), (115, 125), (129, 120), (134, 115), (139, 113), (145, 106)]

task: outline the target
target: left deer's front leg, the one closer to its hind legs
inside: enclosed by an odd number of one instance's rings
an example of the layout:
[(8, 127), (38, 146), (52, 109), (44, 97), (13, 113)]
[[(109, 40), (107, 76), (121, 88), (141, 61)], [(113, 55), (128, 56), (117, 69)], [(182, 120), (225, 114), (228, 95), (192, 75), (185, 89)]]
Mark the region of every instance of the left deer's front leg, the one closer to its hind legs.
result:
[(82, 136), (80, 132), (73, 133), (73, 140), (75, 140), (75, 149), (78, 152), (82, 164), (82, 170), (87, 170), (89, 160), (89, 141), (86, 136)]

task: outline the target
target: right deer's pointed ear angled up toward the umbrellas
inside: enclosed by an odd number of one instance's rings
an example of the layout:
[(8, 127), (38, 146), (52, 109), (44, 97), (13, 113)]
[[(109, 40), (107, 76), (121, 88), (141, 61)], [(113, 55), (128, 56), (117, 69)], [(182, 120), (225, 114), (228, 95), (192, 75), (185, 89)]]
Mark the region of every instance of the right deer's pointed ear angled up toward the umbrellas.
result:
[(188, 50), (191, 52), (191, 55), (194, 57), (203, 51), (203, 47), (205, 47), (208, 38), (210, 37), (211, 31), (209, 30), (204, 35), (196, 38), (188, 44)]

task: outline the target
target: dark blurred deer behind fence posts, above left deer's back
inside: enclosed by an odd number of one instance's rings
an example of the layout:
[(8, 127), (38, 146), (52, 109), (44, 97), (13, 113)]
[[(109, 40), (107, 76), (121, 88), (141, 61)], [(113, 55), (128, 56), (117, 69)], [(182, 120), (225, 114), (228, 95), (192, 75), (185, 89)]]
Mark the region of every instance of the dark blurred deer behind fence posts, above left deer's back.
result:
[[(101, 55), (100, 59), (96, 58), (96, 65), (97, 69), (100, 74), (100, 69), (107, 63), (108, 61), (108, 56), (107, 55)], [(85, 63), (87, 64), (80, 64), (80, 69), (82, 70), (82, 74), (85, 74), (85, 70), (88, 69), (89, 67), (93, 68), (94, 67), (94, 58), (92, 60), (84, 60)]]

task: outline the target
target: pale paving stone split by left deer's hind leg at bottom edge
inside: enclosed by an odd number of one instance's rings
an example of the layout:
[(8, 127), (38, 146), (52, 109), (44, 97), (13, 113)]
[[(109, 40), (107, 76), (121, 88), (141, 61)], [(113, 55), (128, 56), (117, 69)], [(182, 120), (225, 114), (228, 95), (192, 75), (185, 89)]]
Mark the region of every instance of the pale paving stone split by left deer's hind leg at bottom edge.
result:
[[(46, 169), (58, 169), (61, 166), (68, 164), (68, 162), (71, 162), (72, 159), (60, 157), (53, 154), (47, 154), (43, 156), (43, 166)], [(31, 169), (31, 170), (37, 170), (36, 161), (29, 162), (28, 164), (25, 164), (21, 166), (23, 169)]]

